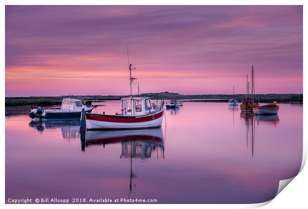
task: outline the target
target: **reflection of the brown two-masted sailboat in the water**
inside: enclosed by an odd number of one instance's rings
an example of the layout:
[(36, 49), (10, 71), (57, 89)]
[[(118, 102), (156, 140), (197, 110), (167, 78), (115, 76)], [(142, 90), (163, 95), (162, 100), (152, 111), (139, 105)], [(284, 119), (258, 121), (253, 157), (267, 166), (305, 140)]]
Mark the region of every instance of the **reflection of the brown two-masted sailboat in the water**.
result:
[(253, 112), (241, 112), (240, 117), (245, 119), (246, 126), (246, 144), (248, 149), (248, 139), (251, 138), (251, 155), (254, 155), (254, 135), (255, 135), (255, 120), (253, 120)]

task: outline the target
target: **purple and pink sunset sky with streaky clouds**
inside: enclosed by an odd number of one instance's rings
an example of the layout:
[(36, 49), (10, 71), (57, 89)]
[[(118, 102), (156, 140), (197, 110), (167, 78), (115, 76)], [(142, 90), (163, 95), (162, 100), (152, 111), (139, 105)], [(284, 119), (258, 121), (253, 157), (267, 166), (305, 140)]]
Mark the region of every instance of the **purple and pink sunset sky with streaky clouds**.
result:
[[(303, 93), (303, 6), (5, 6), (5, 96)], [(134, 92), (137, 88), (134, 87)]]

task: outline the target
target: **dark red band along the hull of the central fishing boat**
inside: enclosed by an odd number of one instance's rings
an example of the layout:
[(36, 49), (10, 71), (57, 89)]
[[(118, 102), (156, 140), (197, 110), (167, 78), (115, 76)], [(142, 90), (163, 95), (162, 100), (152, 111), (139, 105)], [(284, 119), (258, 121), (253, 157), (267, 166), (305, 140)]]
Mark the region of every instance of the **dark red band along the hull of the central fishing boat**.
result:
[(148, 122), (162, 117), (163, 111), (157, 114), (152, 114), (148, 116), (114, 116), (114, 115), (104, 115), (104, 114), (86, 114), (85, 118), (88, 120), (104, 121), (104, 122), (123, 122), (123, 123), (133, 123), (133, 122)]

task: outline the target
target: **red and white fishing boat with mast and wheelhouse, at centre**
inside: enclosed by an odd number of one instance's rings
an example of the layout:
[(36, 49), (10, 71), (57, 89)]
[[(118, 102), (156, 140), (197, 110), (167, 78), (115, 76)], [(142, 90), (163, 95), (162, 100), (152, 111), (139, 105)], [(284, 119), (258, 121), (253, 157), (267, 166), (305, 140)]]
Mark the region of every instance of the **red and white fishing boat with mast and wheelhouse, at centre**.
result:
[(129, 64), (131, 96), (121, 99), (121, 113), (86, 113), (86, 129), (139, 129), (161, 126), (164, 113), (163, 98), (160, 104), (155, 104), (148, 97), (133, 97), (132, 83), (135, 78), (132, 78), (131, 70), (132, 64)]

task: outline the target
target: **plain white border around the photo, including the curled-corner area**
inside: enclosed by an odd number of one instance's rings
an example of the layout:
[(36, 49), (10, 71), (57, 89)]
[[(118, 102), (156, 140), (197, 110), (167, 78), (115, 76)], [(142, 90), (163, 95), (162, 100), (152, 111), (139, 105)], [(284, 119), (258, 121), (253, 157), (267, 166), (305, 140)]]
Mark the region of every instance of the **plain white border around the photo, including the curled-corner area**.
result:
[[(170, 5), (170, 4), (181, 4), (181, 5), (190, 5), (190, 4), (195, 4), (195, 5), (202, 5), (202, 4), (206, 4), (206, 5), (304, 5), (304, 57), (307, 57), (307, 44), (306, 44), (306, 39), (305, 37), (307, 36), (307, 9), (306, 6), (308, 5), (306, 3), (305, 0), (215, 0), (215, 1), (204, 1), (204, 0), (148, 0), (148, 1), (142, 1), (142, 0), (113, 0), (113, 1), (99, 1), (99, 0), (2, 0), (1, 1), (1, 7), (0, 7), (0, 16), (1, 16), (1, 20), (0, 20), (0, 30), (1, 30), (1, 56), (0, 56), (0, 62), (1, 62), (1, 66), (2, 66), (2, 70), (1, 70), (1, 118), (2, 120), (0, 120), (0, 124), (2, 127), (2, 131), (1, 131), (1, 140), (2, 143), (4, 143), (4, 98), (5, 98), (5, 76), (4, 76), (4, 69), (5, 69), (5, 30), (4, 30), (4, 24), (5, 24), (5, 4), (7, 5), (24, 5), (24, 4), (32, 4), (32, 5), (74, 5), (74, 4), (79, 4), (79, 5), (98, 5), (98, 4), (105, 4), (105, 5), (121, 5), (121, 4), (132, 4), (132, 5), (138, 5), (138, 4), (143, 4), (143, 5)], [(303, 68), (306, 69), (307, 67), (307, 62), (304, 59), (304, 65)], [(307, 79), (307, 72), (306, 70), (303, 73), (304, 77), (303, 80)], [(304, 82), (304, 93), (307, 90), (307, 84)], [(304, 103), (304, 115), (308, 115), (307, 114), (307, 108), (308, 105), (307, 103)], [(303, 163), (302, 163), (302, 168), (304, 167), (304, 164), (306, 162), (306, 158), (307, 158), (307, 117), (304, 117), (304, 155), (303, 155)], [(5, 166), (5, 161), (4, 161), (4, 157), (5, 157), (5, 146), (2, 145), (2, 152), (1, 152), (1, 167), (2, 172), (0, 173), (1, 175), (1, 190), (0, 190), (0, 202), (1, 205), (4, 205), (4, 192), (5, 192), (5, 187), (4, 187), (4, 166)], [(306, 187), (308, 186), (308, 181), (307, 181), (307, 177), (308, 177), (308, 171), (307, 168), (303, 169), (302, 172), (300, 173), (299, 176), (297, 176), (288, 186), (288, 189), (283, 190), (273, 201), (272, 203), (268, 204), (267, 203), (263, 203), (263, 204), (252, 204), (252, 205), (172, 205), (172, 207), (177, 207), (177, 208), (186, 208), (188, 207), (194, 207), (194, 208), (204, 208), (204, 207), (208, 207), (208, 208), (255, 208), (255, 207), (260, 207), (263, 205), (266, 205), (266, 208), (268, 209), (272, 209), (272, 208), (279, 208), (279, 209), (289, 209), (289, 208), (306, 208), (307, 206), (307, 193), (306, 192)], [(283, 183), (286, 183), (287, 181), (282, 181)], [(268, 204), (268, 205), (267, 205)], [(85, 207), (89, 207), (89, 205), (5, 205), (6, 208), (85, 208)], [(141, 208), (144, 207), (143, 205), (91, 205), (91, 208), (115, 208), (115, 207), (122, 207), (125, 206), (125, 208)], [(170, 207), (171, 205), (147, 205), (147, 208), (157, 208), (157, 207)], [(227, 207), (228, 206), (228, 207)]]

